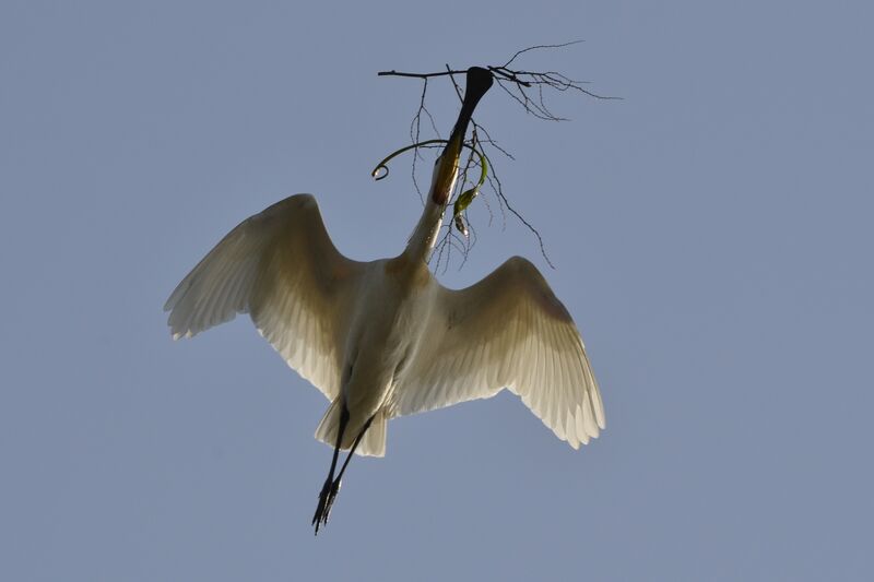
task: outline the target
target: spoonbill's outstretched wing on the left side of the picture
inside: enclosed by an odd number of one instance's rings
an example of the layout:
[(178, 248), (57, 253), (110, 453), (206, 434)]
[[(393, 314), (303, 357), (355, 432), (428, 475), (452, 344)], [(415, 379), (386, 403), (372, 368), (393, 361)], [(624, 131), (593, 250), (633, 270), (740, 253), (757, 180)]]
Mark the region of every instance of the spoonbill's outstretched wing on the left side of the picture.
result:
[(347, 313), (365, 263), (346, 259), (316, 199), (297, 194), (241, 222), (164, 306), (174, 338), (249, 313), (288, 365), (333, 400), (340, 393)]

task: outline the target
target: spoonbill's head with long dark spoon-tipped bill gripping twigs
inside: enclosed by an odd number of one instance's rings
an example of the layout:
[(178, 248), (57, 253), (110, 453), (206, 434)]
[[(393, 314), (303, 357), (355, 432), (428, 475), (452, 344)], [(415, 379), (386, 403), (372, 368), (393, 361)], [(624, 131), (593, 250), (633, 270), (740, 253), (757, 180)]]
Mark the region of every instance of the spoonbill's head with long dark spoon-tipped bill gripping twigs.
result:
[(452, 188), (458, 178), (459, 159), (461, 158), (461, 146), (464, 143), (464, 135), (468, 132), (473, 110), (483, 95), (492, 87), (492, 73), (487, 69), (471, 67), (468, 69), (468, 82), (464, 90), (464, 102), (461, 104), (461, 112), (458, 115), (449, 143), (446, 144), (442, 153), (434, 163), (434, 175), (430, 180), (428, 198), (440, 206), (449, 202)]

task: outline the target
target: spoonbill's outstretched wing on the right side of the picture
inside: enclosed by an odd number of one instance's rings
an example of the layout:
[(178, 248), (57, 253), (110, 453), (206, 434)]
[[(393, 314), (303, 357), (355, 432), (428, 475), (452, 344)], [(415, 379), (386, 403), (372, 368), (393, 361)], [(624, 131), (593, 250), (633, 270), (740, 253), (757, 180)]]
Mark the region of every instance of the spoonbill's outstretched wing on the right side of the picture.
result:
[(423, 346), (404, 370), (392, 413), (486, 399), (505, 387), (575, 449), (605, 426), (574, 320), (520, 257), (465, 289), (436, 289)]

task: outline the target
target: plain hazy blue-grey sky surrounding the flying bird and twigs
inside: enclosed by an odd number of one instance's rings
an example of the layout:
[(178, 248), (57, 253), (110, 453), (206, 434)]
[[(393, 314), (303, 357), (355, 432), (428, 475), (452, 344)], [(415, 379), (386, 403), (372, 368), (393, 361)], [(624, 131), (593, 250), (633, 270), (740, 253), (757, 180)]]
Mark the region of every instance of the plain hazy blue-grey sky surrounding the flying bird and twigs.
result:
[[(871, 580), (871, 5), (3, 0), (0, 579)], [(520, 64), (624, 100), (477, 111), (557, 269), (477, 200), (441, 281), (533, 260), (607, 430), (575, 452), (506, 393), (393, 420), (314, 537), (327, 401), (248, 318), (172, 342), (164, 300), (295, 192), (399, 252), (410, 157), (369, 170), (421, 85), (376, 72), (574, 38)]]

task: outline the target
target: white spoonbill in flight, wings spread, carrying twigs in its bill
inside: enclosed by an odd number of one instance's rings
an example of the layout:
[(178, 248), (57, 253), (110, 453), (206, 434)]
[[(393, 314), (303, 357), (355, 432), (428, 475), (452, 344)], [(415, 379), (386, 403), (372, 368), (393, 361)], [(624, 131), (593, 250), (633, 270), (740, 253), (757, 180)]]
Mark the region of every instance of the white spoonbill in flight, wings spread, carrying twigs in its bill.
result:
[[(334, 448), (312, 518), (317, 534), (352, 455), (385, 455), (386, 425), (397, 416), (507, 388), (575, 449), (605, 426), (580, 334), (533, 264), (513, 257), (459, 290), (428, 270), (468, 124), (491, 85), (488, 71), (469, 70), (461, 114), (400, 256), (345, 258), (316, 199), (297, 194), (228, 233), (164, 306), (174, 338), (249, 313), (288, 366), (331, 402), (316, 430)], [(350, 453), (334, 477), (341, 450)]]

